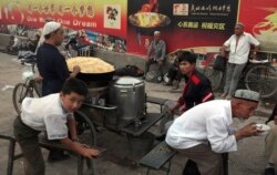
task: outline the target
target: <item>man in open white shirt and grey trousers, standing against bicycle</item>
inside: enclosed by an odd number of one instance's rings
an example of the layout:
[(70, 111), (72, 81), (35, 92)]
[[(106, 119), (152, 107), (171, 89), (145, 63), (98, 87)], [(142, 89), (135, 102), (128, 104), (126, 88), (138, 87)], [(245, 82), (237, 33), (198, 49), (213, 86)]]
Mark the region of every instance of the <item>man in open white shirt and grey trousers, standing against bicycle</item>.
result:
[(235, 25), (233, 34), (224, 44), (223, 50), (229, 49), (227, 63), (226, 82), (220, 97), (232, 99), (237, 89), (240, 74), (248, 62), (250, 47), (254, 45), (252, 58), (256, 58), (259, 42), (250, 34), (244, 31), (245, 25), (240, 22)]

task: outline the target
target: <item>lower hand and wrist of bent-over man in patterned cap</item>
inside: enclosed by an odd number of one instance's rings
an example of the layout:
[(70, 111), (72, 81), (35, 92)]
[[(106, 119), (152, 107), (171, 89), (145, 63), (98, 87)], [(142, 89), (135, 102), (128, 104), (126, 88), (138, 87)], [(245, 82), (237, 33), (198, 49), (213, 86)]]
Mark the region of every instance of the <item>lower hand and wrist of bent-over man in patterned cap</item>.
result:
[(242, 140), (244, 137), (257, 135), (258, 133), (259, 133), (259, 131), (257, 130), (257, 126), (255, 125), (255, 123), (250, 123), (250, 124), (247, 124), (246, 126), (244, 126), (243, 128), (240, 128), (239, 131), (237, 131), (235, 133), (235, 137), (238, 141), (238, 140)]

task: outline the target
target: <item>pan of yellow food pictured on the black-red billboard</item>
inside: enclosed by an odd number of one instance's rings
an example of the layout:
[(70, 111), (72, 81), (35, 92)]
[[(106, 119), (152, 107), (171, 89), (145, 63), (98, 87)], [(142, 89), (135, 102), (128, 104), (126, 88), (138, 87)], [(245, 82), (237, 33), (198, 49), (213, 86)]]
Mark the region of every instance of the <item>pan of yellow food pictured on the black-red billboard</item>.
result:
[(171, 23), (167, 16), (155, 12), (137, 12), (129, 16), (129, 21), (132, 25), (141, 29), (156, 29)]

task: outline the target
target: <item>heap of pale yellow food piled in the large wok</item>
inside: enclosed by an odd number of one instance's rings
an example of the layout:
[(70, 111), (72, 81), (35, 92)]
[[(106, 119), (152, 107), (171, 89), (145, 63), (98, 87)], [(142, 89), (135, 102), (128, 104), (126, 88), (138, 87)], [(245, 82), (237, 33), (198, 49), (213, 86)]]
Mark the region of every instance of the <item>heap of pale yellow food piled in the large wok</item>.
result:
[(99, 58), (72, 58), (66, 60), (69, 71), (73, 71), (75, 65), (81, 68), (82, 73), (107, 73), (113, 72), (114, 66)]

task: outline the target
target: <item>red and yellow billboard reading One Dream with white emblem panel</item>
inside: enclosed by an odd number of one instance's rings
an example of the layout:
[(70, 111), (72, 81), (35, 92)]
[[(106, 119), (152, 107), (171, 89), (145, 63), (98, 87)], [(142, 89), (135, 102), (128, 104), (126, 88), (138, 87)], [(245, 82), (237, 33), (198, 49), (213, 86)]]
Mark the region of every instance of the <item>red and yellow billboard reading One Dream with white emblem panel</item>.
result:
[(41, 28), (47, 18), (73, 30), (126, 38), (126, 0), (1, 0), (1, 24)]

